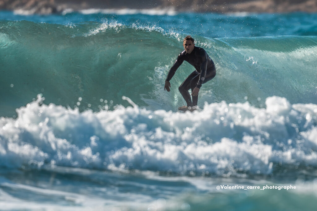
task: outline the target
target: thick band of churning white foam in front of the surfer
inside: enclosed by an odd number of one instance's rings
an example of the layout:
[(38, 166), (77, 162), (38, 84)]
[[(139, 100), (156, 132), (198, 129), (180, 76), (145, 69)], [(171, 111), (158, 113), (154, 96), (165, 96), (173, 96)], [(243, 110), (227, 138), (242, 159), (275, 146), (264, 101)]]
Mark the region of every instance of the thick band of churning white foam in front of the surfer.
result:
[(315, 166), (317, 161), (315, 104), (291, 105), (273, 96), (266, 109), (220, 102), (193, 113), (135, 104), (80, 113), (39, 106), (41, 100), (17, 109), (16, 119), (0, 119), (1, 166), (229, 176), (269, 174), (276, 163)]

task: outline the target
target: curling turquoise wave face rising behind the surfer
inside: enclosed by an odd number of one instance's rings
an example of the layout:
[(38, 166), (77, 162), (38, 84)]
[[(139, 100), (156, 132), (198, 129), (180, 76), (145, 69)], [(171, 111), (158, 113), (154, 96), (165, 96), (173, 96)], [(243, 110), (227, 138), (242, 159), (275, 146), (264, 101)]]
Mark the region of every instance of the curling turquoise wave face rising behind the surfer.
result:
[[(193, 71), (183, 64), (164, 92), (167, 72), (182, 51), (184, 34), (118, 22), (76, 25), (1, 21), (2, 116), (34, 100), (81, 111), (123, 104), (122, 96), (147, 109), (175, 110), (184, 104), (178, 86)], [(196, 36), (216, 63), (217, 76), (204, 84), (204, 102), (248, 101), (263, 107), (269, 96), (291, 103), (317, 103), (316, 36), (206, 38)]]

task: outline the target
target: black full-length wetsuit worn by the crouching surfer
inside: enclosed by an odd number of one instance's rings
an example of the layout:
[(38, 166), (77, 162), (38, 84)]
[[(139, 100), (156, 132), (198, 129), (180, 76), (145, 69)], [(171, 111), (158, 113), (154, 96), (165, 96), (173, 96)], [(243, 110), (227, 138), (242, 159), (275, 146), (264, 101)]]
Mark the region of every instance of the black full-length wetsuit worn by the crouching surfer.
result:
[(184, 80), (184, 82), (178, 87), (178, 90), (184, 97), (188, 107), (197, 106), (198, 95), (192, 96), (193, 101), (191, 102), (191, 95), (188, 90), (191, 89), (191, 91), (193, 91), (195, 87), (200, 89), (202, 84), (214, 78), (216, 76), (216, 67), (207, 52), (203, 48), (195, 46), (191, 53), (183, 51), (178, 55), (174, 65), (168, 72), (165, 81), (171, 80), (177, 68), (183, 63), (183, 61), (187, 61), (189, 64), (193, 65), (196, 70)]

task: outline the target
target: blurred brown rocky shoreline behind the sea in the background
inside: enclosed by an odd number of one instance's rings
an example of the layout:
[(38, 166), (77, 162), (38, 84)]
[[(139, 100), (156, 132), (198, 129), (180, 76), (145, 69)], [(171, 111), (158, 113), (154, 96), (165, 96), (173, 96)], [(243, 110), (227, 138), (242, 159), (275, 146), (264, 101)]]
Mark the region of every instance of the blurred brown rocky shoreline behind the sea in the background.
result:
[(0, 10), (24, 14), (53, 14), (82, 9), (171, 9), (177, 12), (317, 12), (316, 0), (0, 0)]

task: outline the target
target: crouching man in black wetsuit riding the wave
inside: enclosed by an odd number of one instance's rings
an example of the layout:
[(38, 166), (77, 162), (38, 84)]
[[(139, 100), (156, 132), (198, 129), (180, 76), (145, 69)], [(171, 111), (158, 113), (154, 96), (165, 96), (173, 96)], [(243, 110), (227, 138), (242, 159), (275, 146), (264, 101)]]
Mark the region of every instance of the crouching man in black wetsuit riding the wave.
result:
[[(183, 61), (187, 61), (189, 64), (193, 65), (195, 70), (178, 87), (179, 92), (187, 103), (187, 106), (179, 107), (178, 110), (193, 111), (197, 107), (198, 92), (201, 85), (216, 76), (216, 67), (207, 52), (203, 48), (195, 46), (194, 39), (190, 35), (184, 38), (183, 46), (184, 51), (178, 55), (174, 65), (167, 74), (164, 90), (170, 91), (170, 80)], [(192, 99), (188, 91), (190, 89)]]

